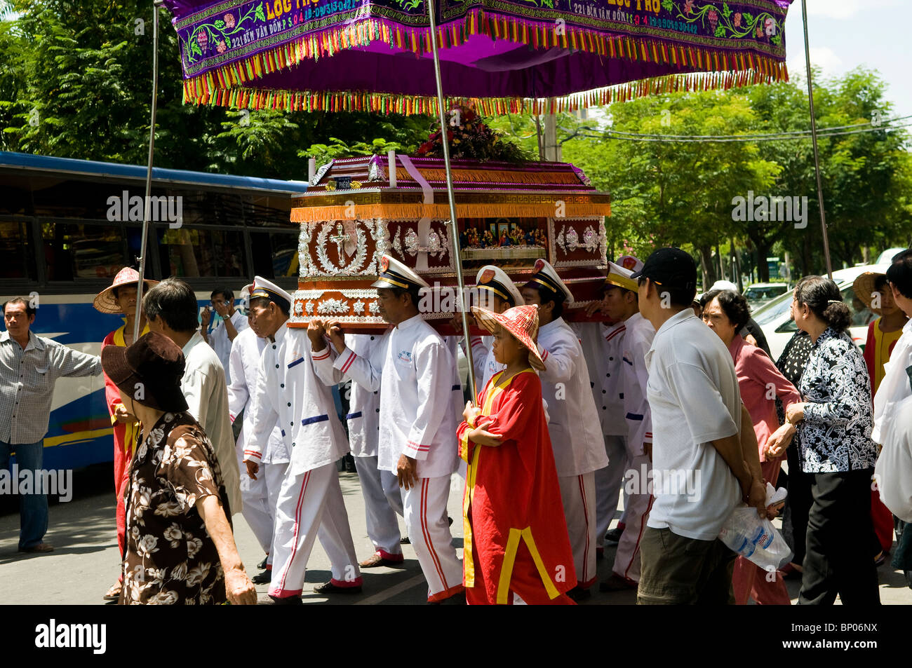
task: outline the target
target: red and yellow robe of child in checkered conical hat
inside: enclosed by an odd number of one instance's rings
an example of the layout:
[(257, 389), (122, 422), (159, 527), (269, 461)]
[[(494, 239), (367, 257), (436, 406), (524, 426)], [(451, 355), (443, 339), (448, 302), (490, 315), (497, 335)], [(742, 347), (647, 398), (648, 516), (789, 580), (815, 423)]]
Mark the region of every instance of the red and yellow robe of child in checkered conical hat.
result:
[(570, 603), (576, 584), (573, 550), (544, 419), (542, 383), (532, 369), (512, 378), (500, 372), (478, 396), (475, 426), (501, 437), (499, 447), (469, 440), (473, 426), (457, 430), (468, 463), (463, 583), (468, 602)]

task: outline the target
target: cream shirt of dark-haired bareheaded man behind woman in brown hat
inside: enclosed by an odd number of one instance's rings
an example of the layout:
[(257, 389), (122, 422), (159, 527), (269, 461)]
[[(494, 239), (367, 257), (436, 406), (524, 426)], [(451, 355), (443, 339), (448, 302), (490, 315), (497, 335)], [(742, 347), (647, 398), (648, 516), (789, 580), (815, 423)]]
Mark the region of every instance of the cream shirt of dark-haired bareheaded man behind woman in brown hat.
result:
[(187, 410), (212, 441), (219, 467), (222, 468), (232, 514), (241, 512), (241, 477), (234, 451), (231, 418), (228, 416), (225, 370), (199, 332), (193, 333), (190, 341), (183, 346), (183, 357), (185, 366), (181, 391), (187, 399)]

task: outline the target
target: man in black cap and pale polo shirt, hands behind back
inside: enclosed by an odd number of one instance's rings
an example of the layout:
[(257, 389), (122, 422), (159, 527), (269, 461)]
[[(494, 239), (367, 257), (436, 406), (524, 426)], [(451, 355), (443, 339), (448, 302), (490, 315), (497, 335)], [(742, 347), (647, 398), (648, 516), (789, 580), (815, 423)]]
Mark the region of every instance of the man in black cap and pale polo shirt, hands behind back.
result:
[(697, 265), (687, 252), (660, 248), (632, 278), (656, 328), (646, 355), (656, 500), (640, 540), (637, 603), (733, 604), (736, 555), (720, 529), (742, 498), (766, 510), (757, 449), (741, 447), (738, 376), (690, 308)]

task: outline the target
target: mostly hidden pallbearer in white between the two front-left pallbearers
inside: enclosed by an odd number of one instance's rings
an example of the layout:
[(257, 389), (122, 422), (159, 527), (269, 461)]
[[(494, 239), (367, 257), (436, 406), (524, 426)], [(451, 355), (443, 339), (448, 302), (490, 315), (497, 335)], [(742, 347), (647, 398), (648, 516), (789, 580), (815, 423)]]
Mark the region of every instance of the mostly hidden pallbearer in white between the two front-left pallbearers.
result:
[[(368, 359), (382, 340), (381, 334), (345, 335), (348, 350)], [(360, 566), (362, 569), (395, 566), (403, 560), (399, 546), (399, 520), (396, 519), (396, 514), (403, 512), (402, 496), (396, 475), (378, 468), (380, 391), (352, 383), (346, 420), (348, 447), (352, 457), (355, 457), (361, 496), (364, 497), (368, 538), (374, 546), (374, 553), (361, 561)]]

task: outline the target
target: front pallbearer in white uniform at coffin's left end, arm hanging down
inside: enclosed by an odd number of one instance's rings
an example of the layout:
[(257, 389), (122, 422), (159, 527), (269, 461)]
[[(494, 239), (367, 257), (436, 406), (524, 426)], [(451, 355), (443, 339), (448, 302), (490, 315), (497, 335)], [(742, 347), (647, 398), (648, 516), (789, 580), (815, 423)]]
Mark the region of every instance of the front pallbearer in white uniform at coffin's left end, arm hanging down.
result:
[[(269, 340), (254, 386), (254, 428), (244, 446), (244, 463), (255, 475), (276, 420), (291, 456), (275, 509), (269, 596), (276, 603), (301, 602), (307, 559), (317, 537), (329, 557), (332, 580), (314, 591), (361, 591), (361, 573), (336, 470), (336, 461), (348, 451), (330, 389), (337, 381), (316, 372), (311, 347), (313, 339), (325, 347), (322, 334), (287, 327), (291, 302), (290, 294), (255, 277), (251, 320)], [(323, 355), (328, 357), (328, 351)]]

